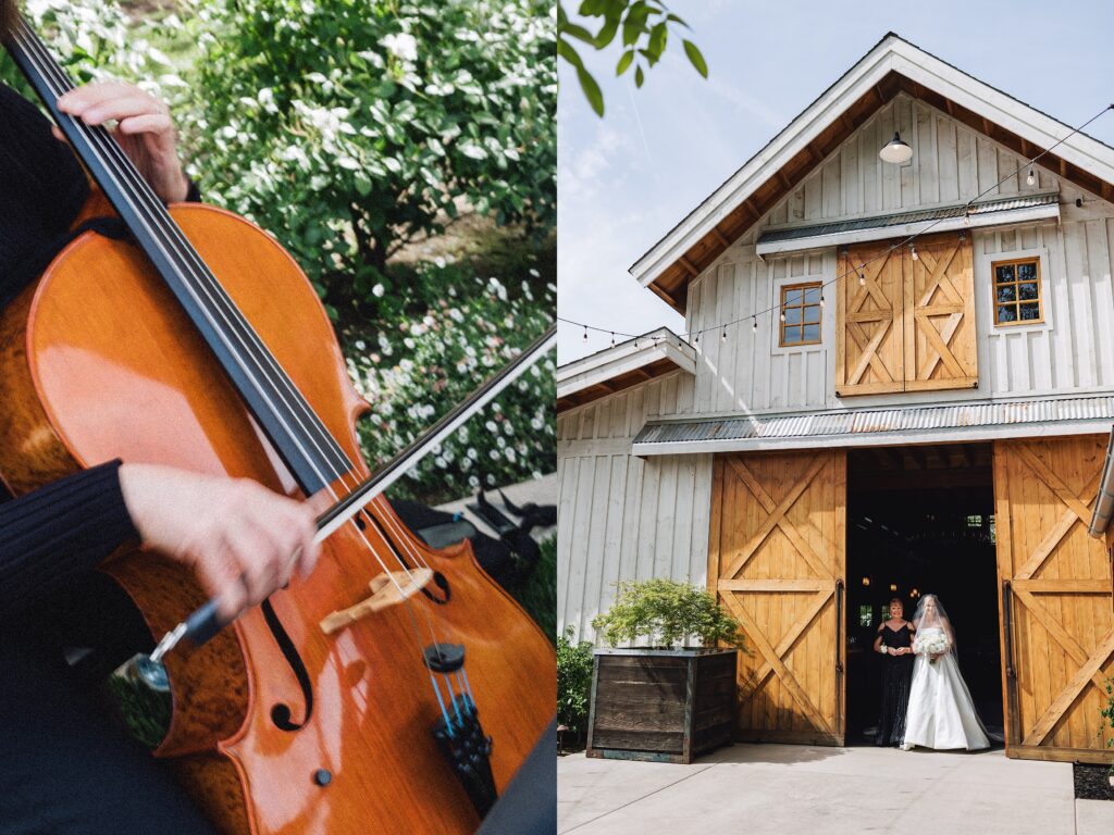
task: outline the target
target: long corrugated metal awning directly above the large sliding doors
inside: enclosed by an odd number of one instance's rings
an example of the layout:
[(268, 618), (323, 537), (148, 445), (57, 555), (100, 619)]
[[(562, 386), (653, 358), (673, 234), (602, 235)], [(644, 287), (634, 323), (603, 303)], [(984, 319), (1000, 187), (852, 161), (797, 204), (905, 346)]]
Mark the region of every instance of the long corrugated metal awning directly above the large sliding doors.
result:
[(1106, 433), (1114, 395), (1058, 400), (861, 409), (647, 423), (635, 455), (672, 455), (814, 446), (882, 446), (995, 438)]

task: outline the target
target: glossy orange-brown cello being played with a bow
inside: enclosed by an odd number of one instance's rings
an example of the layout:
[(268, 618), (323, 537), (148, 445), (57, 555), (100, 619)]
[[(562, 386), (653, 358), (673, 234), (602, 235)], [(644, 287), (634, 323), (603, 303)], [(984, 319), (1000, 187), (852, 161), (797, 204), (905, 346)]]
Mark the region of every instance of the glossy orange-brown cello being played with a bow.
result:
[[(381, 494), (352, 502), (375, 481), (367, 404), (290, 255), (232, 213), (164, 206), (57, 110), (71, 82), (26, 23), (6, 46), (129, 237), (78, 235), (0, 316), (0, 477), (19, 494), (119, 458), (350, 508), (310, 578), (165, 657), (156, 756), (229, 834), (473, 832), (553, 716), (551, 645), (467, 543), (432, 550)], [(157, 554), (104, 570), (155, 636), (204, 603)]]

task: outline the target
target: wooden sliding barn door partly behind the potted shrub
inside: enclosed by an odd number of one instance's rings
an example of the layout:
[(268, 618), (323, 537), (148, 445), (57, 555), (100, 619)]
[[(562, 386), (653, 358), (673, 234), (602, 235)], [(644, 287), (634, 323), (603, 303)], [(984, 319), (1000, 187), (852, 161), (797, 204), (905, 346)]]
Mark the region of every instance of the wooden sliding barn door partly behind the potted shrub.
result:
[(842, 450), (715, 458), (710, 586), (739, 618), (736, 738), (843, 744)]

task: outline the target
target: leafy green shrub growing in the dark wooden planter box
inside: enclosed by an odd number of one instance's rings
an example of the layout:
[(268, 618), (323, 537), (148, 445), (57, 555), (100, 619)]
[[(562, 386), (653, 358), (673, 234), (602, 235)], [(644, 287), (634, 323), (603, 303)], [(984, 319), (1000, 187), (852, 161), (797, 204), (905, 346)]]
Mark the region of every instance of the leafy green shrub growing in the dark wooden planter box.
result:
[(646, 638), (654, 647), (675, 648), (688, 646), (693, 637), (705, 647), (743, 647), (739, 621), (703, 589), (663, 578), (624, 580), (616, 588), (612, 608), (592, 621), (613, 647)]

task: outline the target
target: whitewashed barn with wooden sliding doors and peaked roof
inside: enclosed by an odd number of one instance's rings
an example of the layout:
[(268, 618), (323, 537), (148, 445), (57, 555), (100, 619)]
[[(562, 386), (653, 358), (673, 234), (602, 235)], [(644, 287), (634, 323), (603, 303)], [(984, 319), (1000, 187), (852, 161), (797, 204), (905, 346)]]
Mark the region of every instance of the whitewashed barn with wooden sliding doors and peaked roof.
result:
[(558, 370), (560, 628), (706, 583), (739, 738), (841, 744), (878, 607), (947, 591), (1007, 753), (1108, 759), (1112, 262), (1114, 148), (888, 35), (632, 267), (687, 338)]

